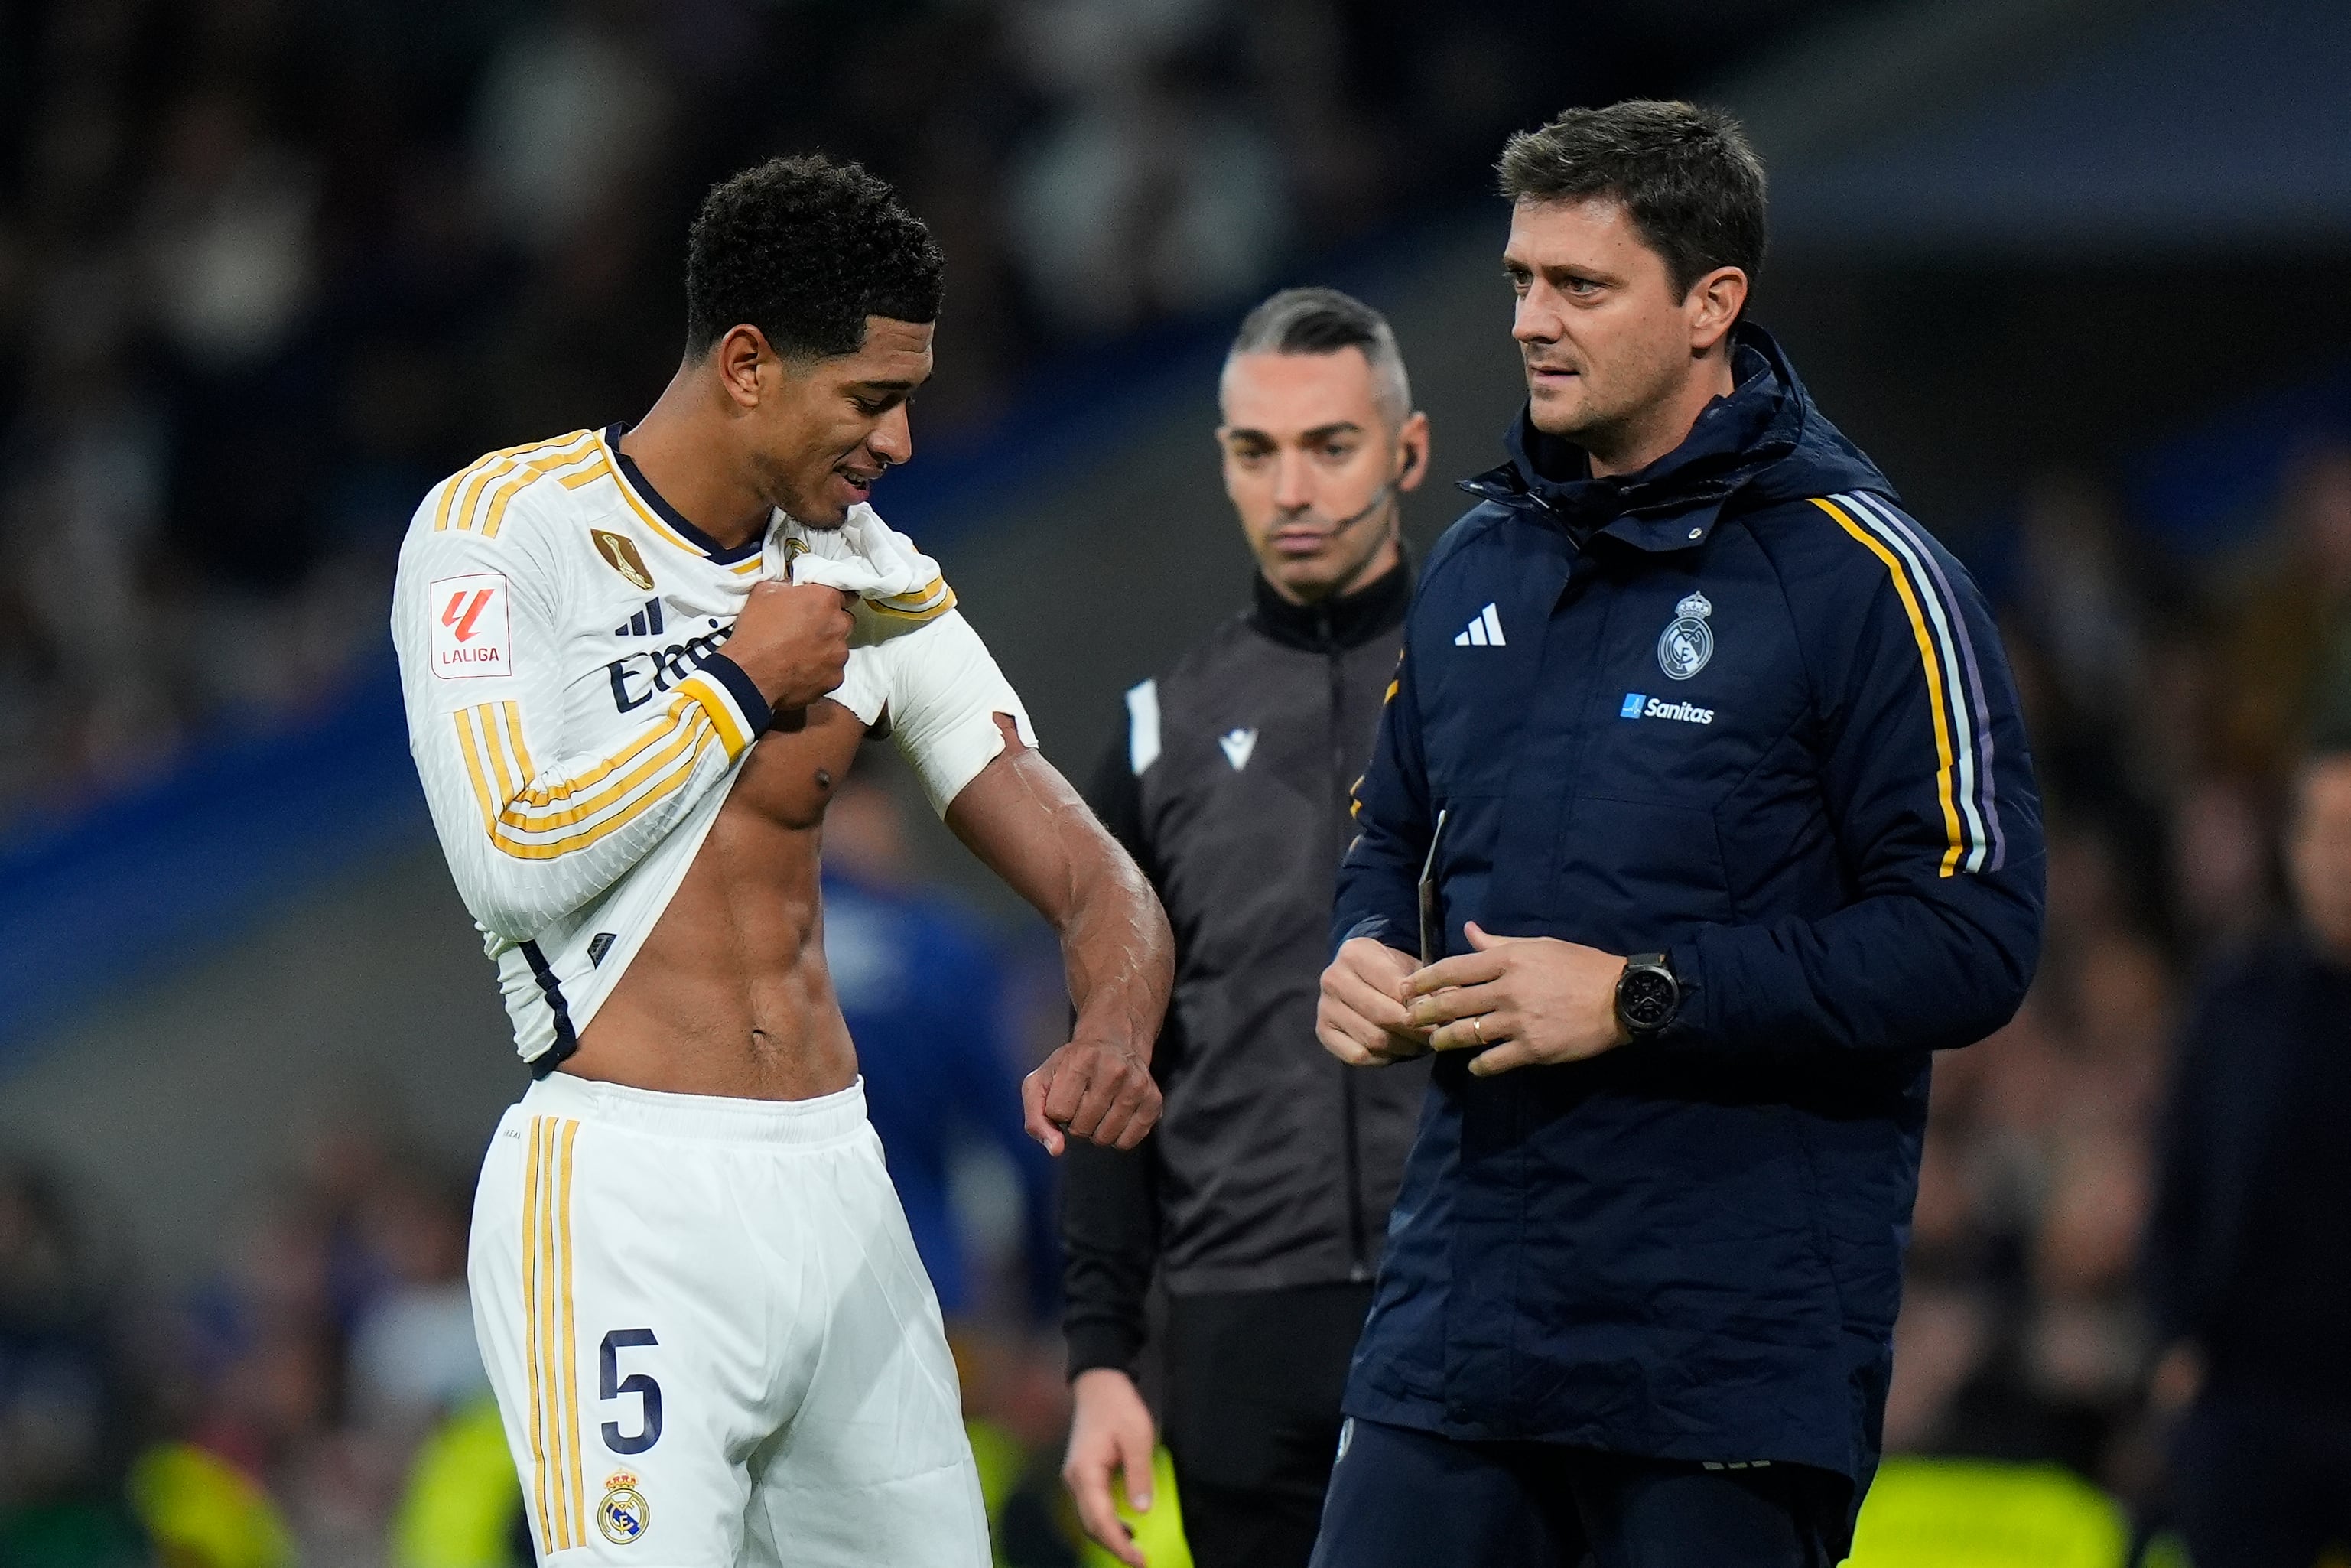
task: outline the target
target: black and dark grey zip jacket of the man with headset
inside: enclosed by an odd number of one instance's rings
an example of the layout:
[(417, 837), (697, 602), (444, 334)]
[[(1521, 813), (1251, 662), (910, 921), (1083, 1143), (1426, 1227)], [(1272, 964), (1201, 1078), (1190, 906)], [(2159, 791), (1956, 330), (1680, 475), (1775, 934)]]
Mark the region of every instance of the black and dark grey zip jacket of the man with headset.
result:
[(1176, 926), (1159, 1126), (1063, 1171), (1070, 1373), (1126, 1368), (1152, 1272), (1176, 1295), (1368, 1281), (1425, 1065), (1354, 1072), (1314, 1039), (1347, 797), (1396, 670), (1411, 569), (1255, 604), (1126, 693), (1086, 802)]

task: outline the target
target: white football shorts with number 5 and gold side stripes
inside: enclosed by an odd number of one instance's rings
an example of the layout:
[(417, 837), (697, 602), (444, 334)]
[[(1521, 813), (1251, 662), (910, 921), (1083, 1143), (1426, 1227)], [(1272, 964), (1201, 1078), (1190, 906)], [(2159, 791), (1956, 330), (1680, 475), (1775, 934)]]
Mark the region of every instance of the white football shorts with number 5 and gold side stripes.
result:
[(491, 1138), (468, 1279), (541, 1561), (987, 1568), (863, 1084), (719, 1100), (552, 1072)]

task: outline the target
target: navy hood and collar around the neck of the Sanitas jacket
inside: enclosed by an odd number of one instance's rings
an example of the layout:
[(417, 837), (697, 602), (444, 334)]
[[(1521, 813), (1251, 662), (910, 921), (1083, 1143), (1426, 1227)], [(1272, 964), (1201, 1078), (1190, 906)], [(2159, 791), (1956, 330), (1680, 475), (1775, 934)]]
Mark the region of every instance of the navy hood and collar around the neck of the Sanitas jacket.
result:
[(1578, 543), (1599, 534), (1639, 550), (1702, 545), (1733, 498), (1763, 505), (1843, 489), (1893, 496), (1876, 463), (1813, 404), (1768, 331), (1747, 322), (1733, 331), (1730, 371), (1730, 393), (1648, 468), (1594, 477), (1582, 447), (1545, 435), (1521, 409), (1505, 437), (1509, 463), (1462, 489), (1505, 505), (1535, 503)]

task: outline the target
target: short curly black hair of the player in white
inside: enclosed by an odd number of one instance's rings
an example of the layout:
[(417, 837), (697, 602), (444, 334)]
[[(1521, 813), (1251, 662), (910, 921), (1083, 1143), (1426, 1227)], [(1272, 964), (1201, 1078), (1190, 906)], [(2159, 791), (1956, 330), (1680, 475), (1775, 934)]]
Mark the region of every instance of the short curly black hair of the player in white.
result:
[(686, 237), (686, 353), (752, 324), (785, 357), (865, 343), (865, 317), (936, 322), (945, 259), (898, 195), (853, 162), (769, 158), (710, 186)]

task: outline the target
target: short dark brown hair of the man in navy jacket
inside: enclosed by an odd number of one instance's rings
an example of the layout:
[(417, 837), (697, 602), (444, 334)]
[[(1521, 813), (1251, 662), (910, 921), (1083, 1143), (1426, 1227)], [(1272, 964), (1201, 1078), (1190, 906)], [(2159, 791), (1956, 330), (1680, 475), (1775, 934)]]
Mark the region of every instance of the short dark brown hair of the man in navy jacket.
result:
[(1681, 294), (1719, 266), (1763, 270), (1763, 160), (1719, 108), (1570, 108), (1512, 136), (1495, 172), (1509, 202), (1622, 202)]

